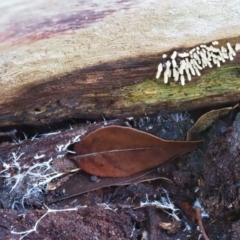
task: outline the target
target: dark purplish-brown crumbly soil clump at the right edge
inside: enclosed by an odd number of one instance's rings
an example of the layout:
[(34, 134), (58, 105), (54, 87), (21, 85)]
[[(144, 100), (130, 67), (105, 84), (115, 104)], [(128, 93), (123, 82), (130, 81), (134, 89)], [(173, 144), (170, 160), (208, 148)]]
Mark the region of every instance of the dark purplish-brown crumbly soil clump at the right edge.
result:
[(224, 137), (213, 140), (204, 159), (204, 204), (215, 218), (240, 211), (240, 114)]

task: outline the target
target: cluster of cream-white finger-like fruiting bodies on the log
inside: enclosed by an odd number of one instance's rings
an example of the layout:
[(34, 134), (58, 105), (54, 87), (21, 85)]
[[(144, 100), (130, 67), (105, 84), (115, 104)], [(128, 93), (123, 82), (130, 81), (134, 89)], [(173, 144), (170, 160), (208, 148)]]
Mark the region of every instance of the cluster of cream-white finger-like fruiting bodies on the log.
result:
[(185, 85), (185, 78), (191, 81), (192, 75), (201, 76), (201, 70), (206, 67), (212, 68), (212, 64), (220, 67), (221, 62), (224, 63), (226, 59), (232, 61), (236, 56), (235, 51), (240, 50), (239, 43), (235, 45), (235, 50), (229, 42), (226, 47), (221, 48), (215, 47), (218, 44), (218, 41), (213, 41), (210, 46), (202, 44), (189, 52), (174, 51), (170, 58), (163, 54), (164, 60), (158, 65), (156, 78), (160, 78), (163, 73), (164, 83), (168, 83), (168, 79), (173, 77), (175, 81), (180, 79), (181, 85)]

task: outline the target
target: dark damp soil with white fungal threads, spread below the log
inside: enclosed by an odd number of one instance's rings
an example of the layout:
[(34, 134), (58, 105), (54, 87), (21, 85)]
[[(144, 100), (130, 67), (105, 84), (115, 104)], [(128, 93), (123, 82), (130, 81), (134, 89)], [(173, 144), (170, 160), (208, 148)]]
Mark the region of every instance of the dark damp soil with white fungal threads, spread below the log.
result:
[[(79, 130), (63, 131), (61, 138), (44, 138), (47, 142), (44, 146), (37, 145), (44, 142), (43, 137), (21, 144), (2, 143), (0, 239), (200, 239), (193, 208), (197, 199), (202, 212), (208, 214), (202, 220), (211, 240), (240, 239), (240, 114), (233, 123), (231, 119), (230, 116), (218, 119), (202, 133), (204, 142), (199, 149), (159, 166), (145, 178), (117, 184), (77, 172), (66, 173), (32, 192), (29, 192), (29, 185), (33, 178), (27, 176), (12, 189), (15, 182), (6, 180), (19, 173), (20, 167), (12, 166), (4, 171), (4, 164), (11, 164), (23, 152), (19, 161), (15, 161), (15, 164), (19, 162), (21, 171), (29, 169), (26, 164), (48, 161), (50, 157), (54, 157), (51, 166), (58, 172), (75, 168), (66, 162), (67, 149), (58, 152), (56, 146), (72, 141)], [(188, 114), (165, 111), (128, 122), (135, 128), (171, 140), (185, 140), (193, 123)], [(83, 134), (89, 131), (88, 127), (84, 129)], [(41, 149), (46, 146), (51, 152)], [(34, 159), (36, 153), (47, 156)], [(52, 173), (52, 169), (47, 171), (44, 173)], [(7, 177), (6, 173), (10, 175)], [(83, 178), (89, 190), (80, 194), (78, 181)], [(40, 180), (34, 179), (33, 183), (37, 181)], [(104, 181), (107, 187), (96, 187)], [(173, 204), (173, 209), (162, 209), (158, 204), (163, 200), (165, 205)], [(141, 203), (147, 205), (141, 206)], [(180, 221), (172, 216), (174, 214)], [(37, 221), (36, 231), (24, 236)]]

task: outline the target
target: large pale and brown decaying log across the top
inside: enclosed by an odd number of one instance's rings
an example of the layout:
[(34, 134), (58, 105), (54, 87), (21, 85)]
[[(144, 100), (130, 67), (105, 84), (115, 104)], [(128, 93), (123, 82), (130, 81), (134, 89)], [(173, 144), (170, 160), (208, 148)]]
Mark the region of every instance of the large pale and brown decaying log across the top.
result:
[(238, 0), (74, 0), (59, 6), (11, 0), (0, 12), (1, 126), (240, 99), (239, 53), (185, 87), (155, 79), (163, 53), (213, 40), (240, 43)]

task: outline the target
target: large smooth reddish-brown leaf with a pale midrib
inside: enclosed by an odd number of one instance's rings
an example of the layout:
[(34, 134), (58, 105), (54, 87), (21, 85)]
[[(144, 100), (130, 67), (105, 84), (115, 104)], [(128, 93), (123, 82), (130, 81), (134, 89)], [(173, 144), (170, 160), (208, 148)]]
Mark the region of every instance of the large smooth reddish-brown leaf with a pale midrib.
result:
[(197, 148), (200, 141), (166, 141), (136, 129), (109, 126), (74, 145), (77, 166), (100, 177), (126, 177)]

